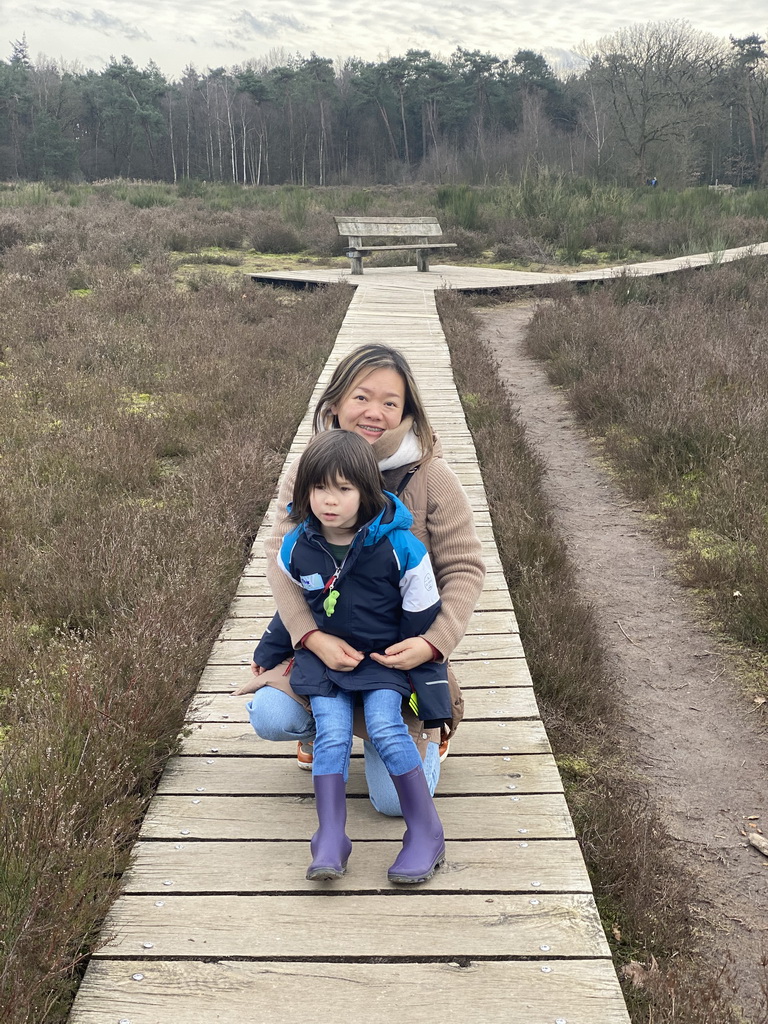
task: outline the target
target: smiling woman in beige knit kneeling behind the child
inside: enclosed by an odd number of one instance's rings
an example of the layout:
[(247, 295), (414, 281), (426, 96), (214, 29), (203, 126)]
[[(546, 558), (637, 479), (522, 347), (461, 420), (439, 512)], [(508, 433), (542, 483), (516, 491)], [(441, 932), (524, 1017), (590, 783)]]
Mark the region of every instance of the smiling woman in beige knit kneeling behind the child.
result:
[[(384, 654), (371, 656), (402, 672), (427, 662), (446, 660), (464, 636), (485, 568), (469, 502), (458, 477), (442, 459), (406, 358), (386, 345), (368, 344), (354, 349), (336, 367), (315, 408), (313, 425), (315, 433), (335, 428), (350, 430), (373, 445), (387, 490), (397, 495), (410, 510), (413, 532), (426, 546), (434, 566), (442, 601), (435, 621), (423, 636), (410, 637), (386, 648)], [(295, 477), (296, 463), (281, 486), (279, 509), (291, 503)], [(298, 588), (278, 567), (283, 538), (291, 526), (290, 521), (279, 516), (265, 545), (267, 578), (281, 618), (295, 648), (310, 650), (331, 670), (351, 671), (362, 659), (361, 652), (316, 628)], [(262, 673), (238, 692), (259, 687), (248, 705), (254, 729), (264, 739), (296, 739), (301, 766), (310, 767), (314, 720), (306, 702), (291, 690), (290, 676), (285, 671)], [(450, 668), (449, 678), (455, 729), (464, 701)], [(408, 710), (406, 717), (433, 794), (440, 772), (440, 733), (425, 730)], [(399, 815), (397, 793), (366, 738), (365, 726), (356, 723), (355, 732), (366, 740), (366, 778), (372, 804), (383, 814)]]

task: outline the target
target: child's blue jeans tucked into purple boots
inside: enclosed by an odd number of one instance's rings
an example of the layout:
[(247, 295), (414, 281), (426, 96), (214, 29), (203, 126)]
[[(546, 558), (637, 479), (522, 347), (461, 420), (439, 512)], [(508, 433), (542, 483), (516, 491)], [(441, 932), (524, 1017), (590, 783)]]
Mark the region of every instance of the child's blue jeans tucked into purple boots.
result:
[[(352, 720), (357, 693), (336, 688), (330, 697), (310, 697), (317, 734), (314, 737), (312, 775), (349, 772)], [(416, 743), (402, 721), (402, 695), (396, 690), (360, 690), (366, 728), (371, 742), (390, 775), (404, 775), (421, 766)]]

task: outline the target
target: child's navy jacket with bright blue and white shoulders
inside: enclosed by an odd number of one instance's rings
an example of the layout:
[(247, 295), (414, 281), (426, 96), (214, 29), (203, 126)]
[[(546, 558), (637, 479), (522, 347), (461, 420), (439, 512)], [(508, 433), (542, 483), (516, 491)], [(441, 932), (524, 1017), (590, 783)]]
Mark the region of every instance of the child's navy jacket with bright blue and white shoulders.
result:
[(417, 715), (426, 728), (436, 728), (450, 722), (453, 713), (445, 665), (428, 662), (407, 673), (368, 656), (420, 636), (440, 608), (429, 554), (409, 528), (413, 517), (394, 495), (387, 499), (383, 512), (357, 530), (341, 565), (313, 516), (284, 538), (279, 557), (283, 570), (302, 588), (317, 629), (366, 657), (351, 672), (329, 669), (311, 651), (292, 649), (278, 614), (264, 631), (254, 662), (271, 669), (294, 654), (291, 686), (306, 696), (327, 696), (335, 686), (394, 689), (406, 697), (415, 692)]

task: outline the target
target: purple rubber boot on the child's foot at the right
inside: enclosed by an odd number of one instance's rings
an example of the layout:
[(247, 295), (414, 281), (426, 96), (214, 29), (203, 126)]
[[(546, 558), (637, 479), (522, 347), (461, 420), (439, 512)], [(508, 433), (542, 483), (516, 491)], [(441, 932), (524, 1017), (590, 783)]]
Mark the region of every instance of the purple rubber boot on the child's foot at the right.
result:
[(391, 777), (408, 827), (402, 837), (402, 849), (387, 871), (387, 878), (390, 882), (413, 886), (431, 879), (435, 868), (445, 859), (445, 838), (421, 765), (404, 775)]

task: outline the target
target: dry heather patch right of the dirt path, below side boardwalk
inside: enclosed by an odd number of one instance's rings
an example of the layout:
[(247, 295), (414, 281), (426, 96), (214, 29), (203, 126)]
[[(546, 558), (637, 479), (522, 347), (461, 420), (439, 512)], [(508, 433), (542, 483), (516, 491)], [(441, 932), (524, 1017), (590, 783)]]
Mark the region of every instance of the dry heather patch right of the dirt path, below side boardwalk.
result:
[[(648, 503), (728, 635), (768, 653), (768, 266), (560, 293), (531, 351)], [(765, 691), (768, 695), (768, 690)]]

